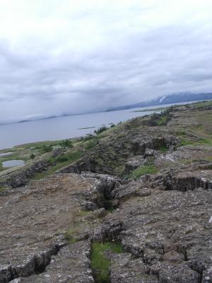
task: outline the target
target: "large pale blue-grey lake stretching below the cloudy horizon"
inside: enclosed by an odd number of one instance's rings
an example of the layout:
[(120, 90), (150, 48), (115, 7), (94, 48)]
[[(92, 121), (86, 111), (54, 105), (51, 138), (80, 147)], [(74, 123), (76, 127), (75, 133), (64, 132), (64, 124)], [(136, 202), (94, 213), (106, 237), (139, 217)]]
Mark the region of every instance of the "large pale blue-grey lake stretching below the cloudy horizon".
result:
[[(185, 103), (175, 103), (175, 105), (176, 104)], [(161, 108), (164, 106), (170, 106), (170, 104), (1, 125), (0, 149), (6, 149), (18, 144), (26, 144), (35, 141), (54, 141), (57, 139), (85, 136), (102, 125), (110, 127), (110, 123), (117, 124), (120, 121), (124, 122), (133, 117), (148, 115), (155, 112), (148, 111), (148, 109)], [(147, 112), (134, 112), (144, 109), (146, 109)], [(80, 129), (85, 127), (95, 128)]]

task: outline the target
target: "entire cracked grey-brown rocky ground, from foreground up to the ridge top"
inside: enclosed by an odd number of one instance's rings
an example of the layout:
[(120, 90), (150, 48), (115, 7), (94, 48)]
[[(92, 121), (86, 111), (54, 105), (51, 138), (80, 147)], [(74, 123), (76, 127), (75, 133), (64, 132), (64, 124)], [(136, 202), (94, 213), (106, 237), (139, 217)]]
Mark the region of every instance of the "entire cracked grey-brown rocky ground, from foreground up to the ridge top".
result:
[[(95, 283), (93, 241), (122, 244), (105, 252), (110, 283), (212, 283), (212, 149), (178, 148), (177, 127), (198, 126), (181, 110), (126, 122), (49, 178), (18, 187), (45, 163), (1, 178), (13, 188), (0, 192), (0, 283)], [(150, 159), (159, 173), (122, 179)]]

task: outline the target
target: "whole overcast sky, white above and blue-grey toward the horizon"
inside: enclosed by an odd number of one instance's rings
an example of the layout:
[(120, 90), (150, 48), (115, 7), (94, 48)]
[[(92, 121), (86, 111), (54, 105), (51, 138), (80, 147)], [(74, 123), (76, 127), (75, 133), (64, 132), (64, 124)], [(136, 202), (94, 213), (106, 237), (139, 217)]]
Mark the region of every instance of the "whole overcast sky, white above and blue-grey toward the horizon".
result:
[(0, 122), (212, 91), (211, 0), (0, 7)]

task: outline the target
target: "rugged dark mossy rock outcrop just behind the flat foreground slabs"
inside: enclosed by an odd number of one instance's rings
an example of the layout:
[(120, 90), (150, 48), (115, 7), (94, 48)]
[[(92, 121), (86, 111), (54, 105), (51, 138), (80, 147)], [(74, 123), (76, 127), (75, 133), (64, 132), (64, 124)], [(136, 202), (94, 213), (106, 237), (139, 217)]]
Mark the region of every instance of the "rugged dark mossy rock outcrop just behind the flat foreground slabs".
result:
[(167, 133), (146, 131), (143, 134), (129, 132), (119, 140), (99, 141), (95, 149), (81, 160), (59, 169), (57, 173), (104, 173), (122, 178), (139, 166), (149, 163), (149, 158), (158, 156), (161, 148), (167, 151), (177, 149), (179, 140)]

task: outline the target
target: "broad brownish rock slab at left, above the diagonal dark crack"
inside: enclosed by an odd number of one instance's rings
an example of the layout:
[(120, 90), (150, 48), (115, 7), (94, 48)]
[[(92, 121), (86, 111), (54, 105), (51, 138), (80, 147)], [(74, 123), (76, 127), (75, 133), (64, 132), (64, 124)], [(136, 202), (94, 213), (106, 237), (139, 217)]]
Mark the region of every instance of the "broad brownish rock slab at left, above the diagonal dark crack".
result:
[(43, 272), (66, 245), (76, 214), (88, 203), (101, 207), (101, 190), (97, 178), (63, 174), (1, 193), (0, 282)]

